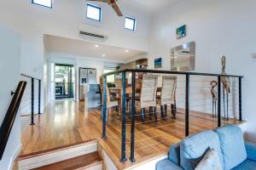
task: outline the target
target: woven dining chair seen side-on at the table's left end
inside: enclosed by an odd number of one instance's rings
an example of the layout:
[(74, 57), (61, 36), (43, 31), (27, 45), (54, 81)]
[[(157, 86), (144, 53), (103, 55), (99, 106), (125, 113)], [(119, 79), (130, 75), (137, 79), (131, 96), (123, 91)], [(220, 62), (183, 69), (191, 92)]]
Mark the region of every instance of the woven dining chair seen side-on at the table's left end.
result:
[[(102, 81), (102, 77), (100, 77), (100, 88), (101, 88), (101, 92), (102, 92), (102, 111), (101, 111), (101, 118), (103, 119), (103, 81)], [(112, 107), (116, 107), (116, 111), (119, 112), (119, 98), (117, 98), (117, 93), (120, 94), (119, 92), (116, 92), (116, 89), (113, 90), (114, 92), (112, 92), (111, 88), (108, 88), (108, 85), (106, 87), (106, 119), (108, 120), (108, 113), (109, 113), (109, 109)], [(106, 120), (106, 122), (107, 122)]]

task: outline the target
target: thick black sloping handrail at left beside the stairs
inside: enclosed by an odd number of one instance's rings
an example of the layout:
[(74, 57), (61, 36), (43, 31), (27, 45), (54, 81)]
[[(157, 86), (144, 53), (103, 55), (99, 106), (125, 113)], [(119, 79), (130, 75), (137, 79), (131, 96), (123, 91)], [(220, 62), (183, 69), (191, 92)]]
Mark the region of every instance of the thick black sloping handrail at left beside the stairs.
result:
[(4, 152), (6, 144), (8, 142), (9, 134), (11, 133), (12, 127), (14, 125), (15, 117), (19, 110), (20, 101), (24, 94), (25, 88), (26, 88), (26, 82), (24, 82), (24, 81), (19, 82), (19, 84), (16, 88), (16, 91), (15, 91), (15, 95), (14, 95), (13, 99), (11, 100), (9, 108), (3, 118), (3, 122), (0, 127), (0, 134), (1, 134), (0, 160), (2, 160), (2, 158), (3, 158), (3, 152)]

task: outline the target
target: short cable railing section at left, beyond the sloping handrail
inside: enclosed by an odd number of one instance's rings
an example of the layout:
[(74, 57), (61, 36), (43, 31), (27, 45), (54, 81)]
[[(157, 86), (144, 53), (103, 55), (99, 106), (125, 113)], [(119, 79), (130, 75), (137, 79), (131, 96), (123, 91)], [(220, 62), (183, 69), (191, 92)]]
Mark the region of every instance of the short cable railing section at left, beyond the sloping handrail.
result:
[(21, 74), (21, 80), (27, 86), (20, 104), (20, 115), (31, 116), (31, 125), (34, 125), (35, 113), (41, 114), (41, 79)]

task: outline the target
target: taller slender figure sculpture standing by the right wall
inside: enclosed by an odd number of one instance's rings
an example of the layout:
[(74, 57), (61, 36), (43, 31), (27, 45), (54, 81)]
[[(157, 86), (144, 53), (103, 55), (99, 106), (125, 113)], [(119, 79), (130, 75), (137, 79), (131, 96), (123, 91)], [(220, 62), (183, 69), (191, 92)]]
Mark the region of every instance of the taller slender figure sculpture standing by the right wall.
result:
[[(221, 82), (223, 84), (223, 104), (224, 104), (224, 119), (229, 119), (229, 94), (230, 94), (230, 77), (226, 77), (226, 57), (222, 56), (221, 58), (221, 65), (222, 65), (222, 71), (221, 75), (224, 75), (221, 77)], [(227, 101), (227, 109), (225, 107), (225, 96), (226, 96), (226, 101)]]

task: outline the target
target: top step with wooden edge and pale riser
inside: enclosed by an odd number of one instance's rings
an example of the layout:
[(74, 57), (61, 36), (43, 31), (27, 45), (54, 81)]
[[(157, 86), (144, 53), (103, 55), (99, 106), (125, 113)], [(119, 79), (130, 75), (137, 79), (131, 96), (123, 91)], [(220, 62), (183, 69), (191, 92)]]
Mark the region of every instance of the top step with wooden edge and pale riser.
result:
[(44, 167), (59, 161), (69, 160), (97, 151), (97, 140), (90, 140), (79, 144), (44, 150), (28, 155), (19, 156), (18, 166), (20, 170)]

